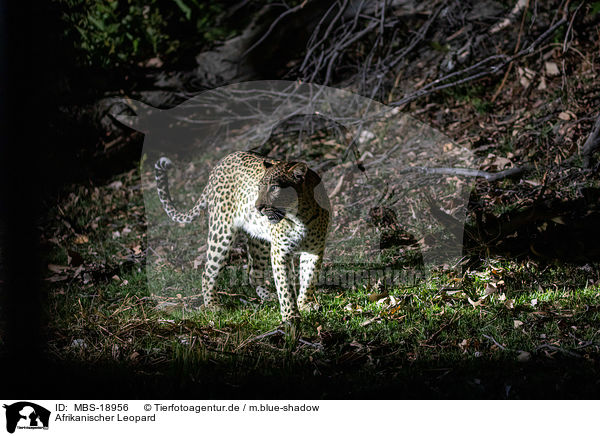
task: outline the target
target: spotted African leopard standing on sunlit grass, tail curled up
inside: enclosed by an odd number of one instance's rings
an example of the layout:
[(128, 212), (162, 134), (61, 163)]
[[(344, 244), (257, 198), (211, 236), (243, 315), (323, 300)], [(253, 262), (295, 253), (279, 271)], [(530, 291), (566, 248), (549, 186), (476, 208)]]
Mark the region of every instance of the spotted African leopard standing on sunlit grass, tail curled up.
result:
[(298, 322), (300, 311), (319, 307), (315, 289), (331, 203), (315, 171), (304, 162), (236, 151), (213, 167), (191, 209), (180, 211), (169, 193), (168, 170), (172, 167), (167, 157), (155, 163), (158, 198), (167, 216), (188, 224), (203, 213), (208, 215), (203, 308), (222, 309), (215, 284), (240, 232), (247, 235), (250, 285), (261, 300), (275, 300), (265, 279), (270, 264), (283, 323)]

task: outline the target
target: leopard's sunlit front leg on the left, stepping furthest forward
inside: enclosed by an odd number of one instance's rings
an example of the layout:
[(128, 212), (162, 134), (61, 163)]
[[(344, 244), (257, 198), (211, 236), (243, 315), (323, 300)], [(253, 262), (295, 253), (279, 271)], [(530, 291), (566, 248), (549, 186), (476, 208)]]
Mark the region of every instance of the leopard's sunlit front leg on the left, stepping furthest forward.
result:
[(271, 242), (271, 266), (281, 319), (283, 322), (293, 322), (300, 317), (300, 312), (293, 287), (295, 279), (292, 274), (292, 253), (278, 239)]

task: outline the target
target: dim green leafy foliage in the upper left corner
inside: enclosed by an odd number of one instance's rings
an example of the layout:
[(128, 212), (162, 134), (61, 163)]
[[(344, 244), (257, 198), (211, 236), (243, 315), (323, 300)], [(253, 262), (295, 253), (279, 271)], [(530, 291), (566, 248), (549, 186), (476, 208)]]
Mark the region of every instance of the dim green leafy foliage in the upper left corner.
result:
[(216, 25), (223, 11), (216, 1), (56, 1), (66, 25), (65, 38), (78, 52), (78, 61), (89, 66), (119, 66), (154, 56), (174, 58), (189, 45), (229, 33)]

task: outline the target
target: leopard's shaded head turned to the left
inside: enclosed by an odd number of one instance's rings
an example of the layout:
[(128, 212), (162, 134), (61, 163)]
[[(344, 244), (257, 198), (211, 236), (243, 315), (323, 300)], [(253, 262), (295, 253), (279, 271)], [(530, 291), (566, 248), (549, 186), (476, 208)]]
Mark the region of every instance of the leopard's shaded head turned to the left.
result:
[(259, 182), (255, 206), (271, 224), (277, 224), (298, 209), (298, 195), (308, 167), (302, 162), (263, 163), (265, 174)]

